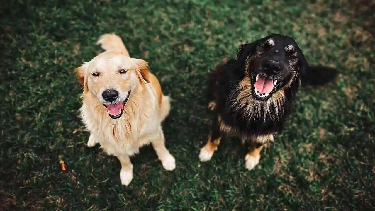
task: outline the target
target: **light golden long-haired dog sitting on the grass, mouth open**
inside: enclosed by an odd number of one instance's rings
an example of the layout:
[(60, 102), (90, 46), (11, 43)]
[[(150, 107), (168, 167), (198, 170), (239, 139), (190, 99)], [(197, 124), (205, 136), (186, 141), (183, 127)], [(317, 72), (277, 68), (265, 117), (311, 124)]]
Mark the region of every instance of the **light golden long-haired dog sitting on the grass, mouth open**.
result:
[(152, 144), (164, 169), (175, 169), (175, 158), (165, 147), (161, 123), (169, 114), (170, 98), (149, 71), (148, 63), (129, 55), (115, 34), (99, 37), (105, 50), (75, 69), (83, 86), (80, 117), (90, 132), (88, 147), (100, 144), (121, 163), (121, 184), (133, 179), (130, 156)]

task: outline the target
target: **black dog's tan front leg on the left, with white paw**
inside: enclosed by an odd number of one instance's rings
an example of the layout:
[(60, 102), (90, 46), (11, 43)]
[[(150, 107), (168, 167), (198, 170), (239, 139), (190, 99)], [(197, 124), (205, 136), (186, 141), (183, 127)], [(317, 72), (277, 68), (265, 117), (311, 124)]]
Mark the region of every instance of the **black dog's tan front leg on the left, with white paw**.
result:
[(207, 162), (213, 156), (213, 153), (217, 150), (217, 147), (220, 144), (221, 132), (219, 129), (218, 121), (215, 120), (211, 124), (210, 135), (208, 136), (208, 141), (201, 148), (199, 152), (199, 160), (201, 162)]

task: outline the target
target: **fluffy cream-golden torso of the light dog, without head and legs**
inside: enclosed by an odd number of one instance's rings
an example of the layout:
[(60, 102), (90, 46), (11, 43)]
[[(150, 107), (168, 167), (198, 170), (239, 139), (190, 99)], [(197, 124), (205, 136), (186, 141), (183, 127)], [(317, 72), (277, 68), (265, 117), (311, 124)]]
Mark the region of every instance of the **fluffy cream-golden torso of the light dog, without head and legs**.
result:
[(93, 103), (95, 99), (91, 98), (95, 96), (83, 96), (82, 120), (86, 129), (108, 154), (132, 156), (157, 134), (161, 122), (169, 113), (169, 97), (162, 96), (162, 103), (159, 104), (156, 93), (149, 86), (147, 84), (144, 90), (132, 91), (124, 108), (124, 118), (119, 120), (109, 118), (101, 103)]

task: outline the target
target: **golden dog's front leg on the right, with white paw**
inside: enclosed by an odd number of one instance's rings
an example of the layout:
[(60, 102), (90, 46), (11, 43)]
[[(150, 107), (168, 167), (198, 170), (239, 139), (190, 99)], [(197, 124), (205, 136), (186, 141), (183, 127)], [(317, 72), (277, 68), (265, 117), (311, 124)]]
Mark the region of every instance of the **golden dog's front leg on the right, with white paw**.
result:
[(165, 148), (165, 139), (163, 130), (160, 127), (157, 138), (151, 141), (151, 144), (156, 152), (158, 159), (162, 162), (165, 170), (172, 171), (176, 168), (176, 161), (174, 157)]

